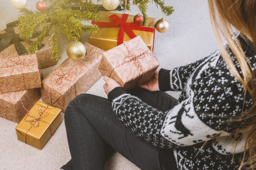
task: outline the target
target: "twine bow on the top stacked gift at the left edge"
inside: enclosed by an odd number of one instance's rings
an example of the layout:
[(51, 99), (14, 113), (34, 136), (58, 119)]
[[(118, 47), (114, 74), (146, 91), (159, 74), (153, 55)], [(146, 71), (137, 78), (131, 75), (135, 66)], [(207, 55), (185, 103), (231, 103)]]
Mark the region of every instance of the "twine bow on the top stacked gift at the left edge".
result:
[[(24, 75), (23, 75), (23, 72), (22, 72), (22, 67), (21, 67), (21, 65), (23, 65), (23, 66), (29, 66), (30, 64), (32, 64), (33, 62), (34, 62), (34, 60), (33, 59), (31, 59), (31, 58), (27, 58), (27, 54), (25, 53), (25, 54), (23, 54), (22, 56), (25, 56), (25, 57), (23, 57), (23, 59), (19, 59), (18, 61), (17, 60), (14, 60), (14, 59), (12, 59), (12, 58), (8, 58), (7, 60), (8, 61), (12, 61), (12, 62), (14, 62), (13, 64), (6, 64), (6, 65), (4, 65), (4, 66), (1, 66), (0, 68), (7, 68), (7, 67), (11, 67), (11, 66), (20, 66), (20, 73), (21, 73), (21, 75), (22, 75), (22, 80), (23, 80), (23, 86), (24, 86), (24, 88), (26, 88), (26, 86), (25, 86), (25, 80), (24, 80)], [(19, 57), (20, 58), (20, 56), (19, 55), (11, 55), (10, 57)]]

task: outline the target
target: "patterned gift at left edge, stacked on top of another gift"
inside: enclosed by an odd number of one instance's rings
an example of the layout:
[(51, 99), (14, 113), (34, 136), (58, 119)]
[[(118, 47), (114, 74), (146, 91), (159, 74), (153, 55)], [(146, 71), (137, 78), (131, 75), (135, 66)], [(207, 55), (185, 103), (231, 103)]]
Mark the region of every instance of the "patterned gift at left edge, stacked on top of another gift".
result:
[(35, 54), (0, 58), (0, 84), (0, 93), (41, 87)]

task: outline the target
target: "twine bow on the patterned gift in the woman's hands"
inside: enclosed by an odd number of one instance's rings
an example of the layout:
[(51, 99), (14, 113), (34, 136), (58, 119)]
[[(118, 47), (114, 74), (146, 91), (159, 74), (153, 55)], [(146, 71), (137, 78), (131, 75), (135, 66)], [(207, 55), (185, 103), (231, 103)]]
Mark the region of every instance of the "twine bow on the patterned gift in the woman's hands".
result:
[[(126, 44), (124, 44), (124, 46), (127, 48), (127, 51), (129, 53), (129, 55), (125, 56), (124, 58), (124, 62), (122, 62), (121, 64), (117, 65), (116, 67), (113, 68), (113, 70), (110, 72), (110, 75), (109, 77), (111, 76), (112, 72), (119, 66), (125, 64), (125, 63), (129, 63), (129, 62), (133, 62), (134, 65), (136, 67), (139, 67), (140, 68), (140, 72), (142, 72), (142, 76), (144, 76), (144, 71), (142, 69), (142, 65), (140, 64), (140, 61), (139, 59), (142, 59), (144, 58), (146, 55), (144, 54), (147, 54), (148, 53), (148, 50), (144, 50), (144, 51), (141, 51), (137, 54), (135, 54), (132, 50), (129, 50), (129, 48), (127, 47)], [(138, 73), (138, 75), (135, 76), (135, 78), (133, 80), (135, 80), (137, 77), (139, 77), (140, 75), (140, 72)]]

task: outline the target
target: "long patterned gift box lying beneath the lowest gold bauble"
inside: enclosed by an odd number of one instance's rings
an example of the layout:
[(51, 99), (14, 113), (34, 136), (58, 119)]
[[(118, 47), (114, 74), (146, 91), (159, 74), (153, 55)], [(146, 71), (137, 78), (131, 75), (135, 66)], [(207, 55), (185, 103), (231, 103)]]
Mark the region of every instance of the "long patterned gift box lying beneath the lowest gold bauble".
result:
[(66, 59), (42, 80), (42, 101), (63, 112), (77, 95), (87, 91), (100, 77), (98, 65), (103, 50), (85, 43), (88, 54), (81, 60)]

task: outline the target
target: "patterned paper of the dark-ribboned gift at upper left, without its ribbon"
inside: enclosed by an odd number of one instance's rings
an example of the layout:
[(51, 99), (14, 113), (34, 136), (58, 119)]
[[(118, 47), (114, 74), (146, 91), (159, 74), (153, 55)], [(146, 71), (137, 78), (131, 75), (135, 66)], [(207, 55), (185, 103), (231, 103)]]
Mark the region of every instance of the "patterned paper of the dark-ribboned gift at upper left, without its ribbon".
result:
[[(16, 34), (20, 33), (18, 27), (13, 27)], [(37, 29), (37, 31), (42, 31), (41, 29)], [(6, 33), (5, 30), (0, 31), (0, 35)], [(30, 39), (31, 41), (35, 41), (37, 38)], [(20, 43), (28, 50), (30, 44), (26, 41), (20, 41)], [(45, 44), (40, 50), (35, 51), (37, 56), (38, 65), (40, 68), (46, 68), (57, 64), (57, 61), (53, 61), (51, 59), (52, 54), (52, 40), (50, 36), (46, 36), (42, 44)], [(0, 58), (8, 57), (10, 55), (18, 55), (15, 44), (11, 44), (9, 47), (5, 48), (3, 51), (0, 52)]]

